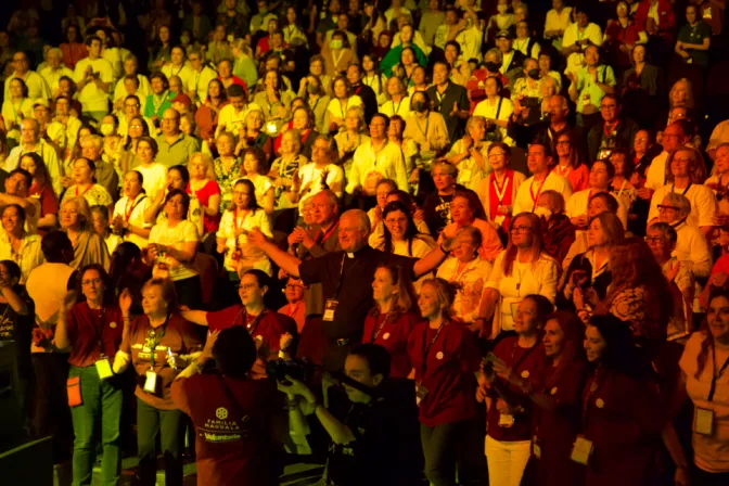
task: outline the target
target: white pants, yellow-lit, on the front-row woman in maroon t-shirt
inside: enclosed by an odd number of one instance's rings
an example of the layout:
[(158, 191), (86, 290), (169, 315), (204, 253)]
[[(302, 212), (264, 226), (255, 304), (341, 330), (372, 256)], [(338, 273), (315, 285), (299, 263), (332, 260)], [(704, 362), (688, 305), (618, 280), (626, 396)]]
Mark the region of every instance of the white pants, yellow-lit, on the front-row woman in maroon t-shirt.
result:
[(532, 453), (529, 440), (501, 442), (486, 436), (489, 486), (519, 486)]

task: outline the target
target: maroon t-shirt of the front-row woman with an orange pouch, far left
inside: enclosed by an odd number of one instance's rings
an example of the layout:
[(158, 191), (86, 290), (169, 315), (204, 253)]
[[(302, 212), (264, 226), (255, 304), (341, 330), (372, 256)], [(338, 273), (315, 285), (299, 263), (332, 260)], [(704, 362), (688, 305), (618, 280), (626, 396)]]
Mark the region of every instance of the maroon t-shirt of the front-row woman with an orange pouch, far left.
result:
[(118, 307), (92, 310), (86, 302), (76, 304), (68, 312), (68, 338), (72, 344), (68, 362), (80, 368), (93, 366), (101, 357), (99, 338), (104, 356), (113, 359), (122, 345), (123, 331), (124, 320)]

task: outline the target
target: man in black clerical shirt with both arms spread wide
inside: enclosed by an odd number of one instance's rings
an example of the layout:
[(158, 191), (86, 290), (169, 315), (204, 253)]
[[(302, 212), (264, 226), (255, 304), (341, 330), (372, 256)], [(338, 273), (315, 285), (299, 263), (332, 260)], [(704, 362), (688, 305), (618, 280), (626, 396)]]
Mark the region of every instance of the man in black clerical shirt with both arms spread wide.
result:
[(327, 338), (323, 366), (328, 370), (342, 369), (347, 353), (361, 342), (364, 318), (374, 304), (371, 284), (376, 268), (383, 264), (399, 265), (415, 280), (437, 267), (452, 243), (448, 240), (445, 247), (436, 247), (423, 258), (415, 259), (371, 248), (369, 235), (367, 213), (347, 210), (340, 218), (337, 238), (342, 251), (302, 261), (268, 241), (258, 229), (248, 233), (248, 242), (285, 272), (300, 277), (306, 285), (322, 284), (322, 327)]

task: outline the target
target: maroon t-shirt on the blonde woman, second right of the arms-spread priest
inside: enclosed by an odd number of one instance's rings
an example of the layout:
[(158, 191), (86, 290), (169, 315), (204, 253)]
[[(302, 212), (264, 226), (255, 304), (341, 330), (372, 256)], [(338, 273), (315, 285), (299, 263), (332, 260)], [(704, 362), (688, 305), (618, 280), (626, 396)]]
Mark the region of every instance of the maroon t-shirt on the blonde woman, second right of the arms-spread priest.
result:
[(451, 320), (433, 343), (436, 333), (427, 322), (421, 322), (408, 338), (415, 381), (427, 389), (420, 402), (419, 419), (429, 427), (476, 417), (474, 373), (481, 366), (476, 340), (463, 322)]

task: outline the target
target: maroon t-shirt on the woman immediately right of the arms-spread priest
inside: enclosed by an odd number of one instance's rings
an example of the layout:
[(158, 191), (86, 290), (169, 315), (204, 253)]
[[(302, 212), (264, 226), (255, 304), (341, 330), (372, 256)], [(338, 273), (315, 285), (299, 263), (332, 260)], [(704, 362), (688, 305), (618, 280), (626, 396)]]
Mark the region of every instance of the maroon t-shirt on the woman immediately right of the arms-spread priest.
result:
[(364, 319), (362, 343), (379, 344), (389, 351), (391, 378), (408, 378), (412, 371), (408, 357), (408, 337), (418, 321), (413, 312), (370, 312)]

